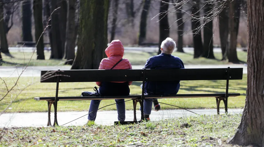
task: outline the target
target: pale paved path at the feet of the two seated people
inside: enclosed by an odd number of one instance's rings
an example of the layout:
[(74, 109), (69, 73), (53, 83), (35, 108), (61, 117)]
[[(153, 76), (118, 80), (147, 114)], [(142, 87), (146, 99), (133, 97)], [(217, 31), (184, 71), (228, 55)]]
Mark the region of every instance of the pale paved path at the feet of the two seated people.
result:
[[(192, 109), (191, 111), (197, 114), (216, 114), (216, 109)], [(242, 114), (243, 109), (229, 109), (229, 114)], [(224, 110), (220, 110), (223, 114)], [(58, 112), (59, 125), (65, 124), (78, 117), (88, 114), (87, 111), (82, 112)], [(161, 119), (186, 117), (190, 115), (196, 115), (186, 110), (160, 110), (158, 112), (152, 111), (151, 120), (158, 121)], [(51, 114), (51, 121), (53, 114)], [(126, 111), (126, 121), (133, 121), (133, 111)], [(140, 118), (140, 111), (137, 111), (137, 118)], [(113, 125), (114, 121), (117, 121), (117, 111), (98, 111), (96, 117), (96, 124)], [(76, 121), (73, 121), (68, 125), (84, 125), (87, 122), (87, 116), (81, 117)], [(0, 116), (0, 127), (42, 127), (47, 126), (47, 112), (46, 113), (6, 113)]]

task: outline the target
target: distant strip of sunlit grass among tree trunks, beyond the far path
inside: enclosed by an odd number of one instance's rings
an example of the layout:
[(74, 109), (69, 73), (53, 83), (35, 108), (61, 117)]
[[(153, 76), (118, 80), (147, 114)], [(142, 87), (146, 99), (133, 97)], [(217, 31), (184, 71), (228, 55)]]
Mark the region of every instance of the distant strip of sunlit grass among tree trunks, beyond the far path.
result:
[[(2, 54), (2, 58), (3, 61), (6, 61), (8, 63), (3, 63), (3, 66), (10, 66), (13, 64), (17, 64), (17, 65), (23, 65), (23, 64), (27, 64), (30, 57), (32, 56), (32, 53), (21, 53), (21, 52), (11, 52), (11, 54), (15, 57), (15, 58), (10, 58), (5, 56), (5, 54)], [(238, 54), (238, 58), (239, 60), (243, 61), (243, 62), (247, 62), (247, 52), (242, 52), (239, 51), (237, 52)], [(147, 52), (128, 52), (124, 54), (124, 58), (129, 59), (129, 61), (131, 62), (132, 65), (145, 65), (146, 60), (151, 57), (156, 55), (156, 53), (147, 53)], [(181, 58), (183, 60), (183, 63), (185, 65), (187, 64), (228, 64), (227, 61), (220, 61), (222, 58), (222, 54), (221, 53), (215, 53), (215, 57), (217, 58), (217, 60), (213, 60), (213, 59), (207, 59), (207, 58), (198, 58), (198, 59), (194, 59), (193, 58), (193, 54), (190, 53), (177, 53), (174, 52), (173, 55), (178, 56), (179, 58)], [(46, 52), (45, 53), (45, 58), (46, 60), (36, 60), (36, 53), (33, 55), (31, 62), (29, 63), (29, 66), (54, 66), (54, 65), (59, 65), (62, 64), (63, 62), (65, 62), (66, 60), (49, 60), (50, 58), (50, 53)], [(25, 59), (25, 62), (24, 62)]]

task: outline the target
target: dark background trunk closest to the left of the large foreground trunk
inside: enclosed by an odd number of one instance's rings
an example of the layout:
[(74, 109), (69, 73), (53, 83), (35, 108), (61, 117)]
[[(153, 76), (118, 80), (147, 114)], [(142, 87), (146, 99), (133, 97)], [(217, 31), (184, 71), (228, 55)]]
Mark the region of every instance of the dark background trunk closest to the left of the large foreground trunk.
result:
[[(229, 0), (229, 21), (228, 21), (228, 50), (227, 50), (227, 58), (229, 62), (238, 63), (239, 60), (237, 58), (236, 53), (236, 44), (237, 44), (237, 33), (238, 33), (238, 22), (236, 18), (237, 12), (240, 10), (239, 5), (237, 5), (239, 0), (232, 1)], [(236, 14), (235, 14), (236, 13)]]

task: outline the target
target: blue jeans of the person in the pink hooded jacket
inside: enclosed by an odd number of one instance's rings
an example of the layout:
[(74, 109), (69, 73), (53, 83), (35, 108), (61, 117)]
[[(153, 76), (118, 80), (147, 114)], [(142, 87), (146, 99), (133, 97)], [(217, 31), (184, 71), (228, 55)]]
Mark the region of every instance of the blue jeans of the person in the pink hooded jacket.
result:
[[(89, 115), (88, 115), (88, 120), (90, 121), (95, 121), (96, 118), (96, 114), (97, 114), (97, 109), (99, 108), (99, 104), (100, 104), (101, 100), (91, 100), (90, 103), (90, 108), (89, 108)], [(125, 100), (124, 99), (119, 99), (119, 100), (115, 100), (116, 104), (116, 109), (117, 109), (117, 113), (118, 113), (118, 121), (125, 121), (126, 115), (125, 115), (125, 111), (126, 111), (126, 107), (125, 107)]]

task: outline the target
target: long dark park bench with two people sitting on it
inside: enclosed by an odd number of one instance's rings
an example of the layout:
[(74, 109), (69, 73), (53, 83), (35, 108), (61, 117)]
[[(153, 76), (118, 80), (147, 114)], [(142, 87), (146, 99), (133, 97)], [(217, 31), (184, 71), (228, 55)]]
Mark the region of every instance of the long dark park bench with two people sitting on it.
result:
[[(162, 76), (165, 75), (165, 76)], [(54, 123), (57, 121), (57, 105), (59, 100), (111, 100), (111, 99), (133, 99), (134, 121), (115, 122), (120, 124), (138, 123), (136, 118), (136, 104), (141, 104), (141, 120), (143, 116), (143, 100), (150, 98), (216, 98), (217, 114), (219, 114), (220, 101), (223, 100), (225, 112), (227, 113), (228, 97), (240, 96), (239, 93), (228, 93), (229, 80), (242, 79), (243, 68), (205, 68), (205, 69), (126, 69), (126, 70), (42, 70), (41, 82), (56, 82), (55, 97), (35, 97), (34, 100), (48, 101), (48, 126), (51, 125), (51, 106), (54, 106)], [(176, 94), (176, 95), (144, 95), (144, 86), (142, 95), (129, 96), (63, 96), (58, 97), (59, 83), (62, 82), (121, 82), (121, 81), (194, 81), (194, 80), (226, 80), (226, 89), (224, 93), (211, 94)], [(143, 84), (144, 85), (144, 84)], [(72, 87), (73, 88), (73, 87)], [(81, 95), (80, 91), (80, 95)], [(78, 95), (79, 95), (78, 94)]]

